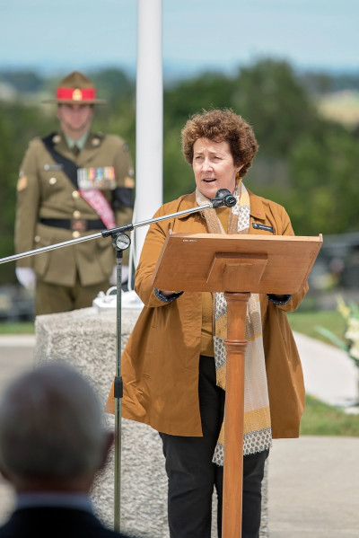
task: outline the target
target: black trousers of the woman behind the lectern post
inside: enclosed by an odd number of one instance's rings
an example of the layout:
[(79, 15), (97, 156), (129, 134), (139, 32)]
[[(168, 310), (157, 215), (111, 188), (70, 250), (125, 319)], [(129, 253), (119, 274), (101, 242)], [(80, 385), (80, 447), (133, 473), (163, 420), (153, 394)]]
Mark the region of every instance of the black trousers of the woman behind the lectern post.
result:
[[(212, 495), (218, 498), (218, 536), (222, 535), (223, 467), (212, 463), (223, 422), (223, 389), (215, 384), (215, 360), (199, 359), (199, 405), (203, 437), (160, 434), (169, 480), (171, 538), (210, 538)], [(261, 483), (268, 451), (243, 457), (242, 538), (258, 538)]]

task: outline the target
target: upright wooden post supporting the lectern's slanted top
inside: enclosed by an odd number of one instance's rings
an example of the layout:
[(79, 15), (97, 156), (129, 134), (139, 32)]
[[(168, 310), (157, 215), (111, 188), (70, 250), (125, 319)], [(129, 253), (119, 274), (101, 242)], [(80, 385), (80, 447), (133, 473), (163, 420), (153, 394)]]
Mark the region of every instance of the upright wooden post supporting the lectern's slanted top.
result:
[(223, 538), (241, 538), (244, 356), (249, 293), (225, 293), (227, 376), (224, 411)]

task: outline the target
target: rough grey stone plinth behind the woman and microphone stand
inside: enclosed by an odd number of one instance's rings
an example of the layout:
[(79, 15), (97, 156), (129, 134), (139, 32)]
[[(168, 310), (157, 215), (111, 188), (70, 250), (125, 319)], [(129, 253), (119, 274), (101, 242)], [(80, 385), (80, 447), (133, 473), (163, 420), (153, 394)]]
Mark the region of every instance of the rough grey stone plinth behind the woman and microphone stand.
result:
[[(139, 309), (122, 309), (121, 345), (127, 343)], [(36, 318), (35, 362), (64, 360), (78, 369), (105, 403), (116, 368), (116, 312), (84, 308)], [(109, 428), (114, 419), (108, 415)], [(121, 530), (168, 538), (167, 477), (161, 439), (153, 428), (131, 420), (121, 422)], [(98, 516), (113, 525), (114, 463), (98, 477), (92, 500)], [(215, 503), (215, 500), (214, 500)], [(263, 484), (261, 538), (267, 534), (267, 472)], [(215, 536), (215, 510), (213, 536)]]

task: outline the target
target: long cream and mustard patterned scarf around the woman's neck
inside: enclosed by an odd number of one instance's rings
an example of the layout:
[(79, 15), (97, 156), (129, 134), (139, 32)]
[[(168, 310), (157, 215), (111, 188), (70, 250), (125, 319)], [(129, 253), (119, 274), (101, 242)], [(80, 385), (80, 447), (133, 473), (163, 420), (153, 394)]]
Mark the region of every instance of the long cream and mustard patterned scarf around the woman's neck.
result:
[[(233, 192), (237, 198), (232, 207), (228, 223), (228, 234), (248, 234), (250, 231), (250, 196), (247, 189), (237, 180)], [(196, 190), (198, 206), (208, 203), (208, 198)], [(203, 215), (209, 234), (225, 234), (215, 209), (205, 209)], [(224, 340), (227, 336), (227, 302), (223, 293), (214, 293), (214, 348), (216, 384), (225, 390), (226, 351)], [(269, 398), (267, 389), (266, 364), (262, 338), (259, 295), (251, 294), (247, 307), (244, 366), (244, 430), (243, 455), (262, 452), (272, 444)], [(224, 422), (215, 446), (213, 462), (223, 465)]]

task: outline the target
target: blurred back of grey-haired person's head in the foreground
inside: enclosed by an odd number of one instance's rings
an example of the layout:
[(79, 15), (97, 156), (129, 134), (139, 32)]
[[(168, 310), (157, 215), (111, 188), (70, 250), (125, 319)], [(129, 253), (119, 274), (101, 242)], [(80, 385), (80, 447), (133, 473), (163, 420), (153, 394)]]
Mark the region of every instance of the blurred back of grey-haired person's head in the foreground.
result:
[(96, 392), (63, 363), (21, 375), (1, 399), (0, 469), (18, 489), (89, 489), (112, 440)]

